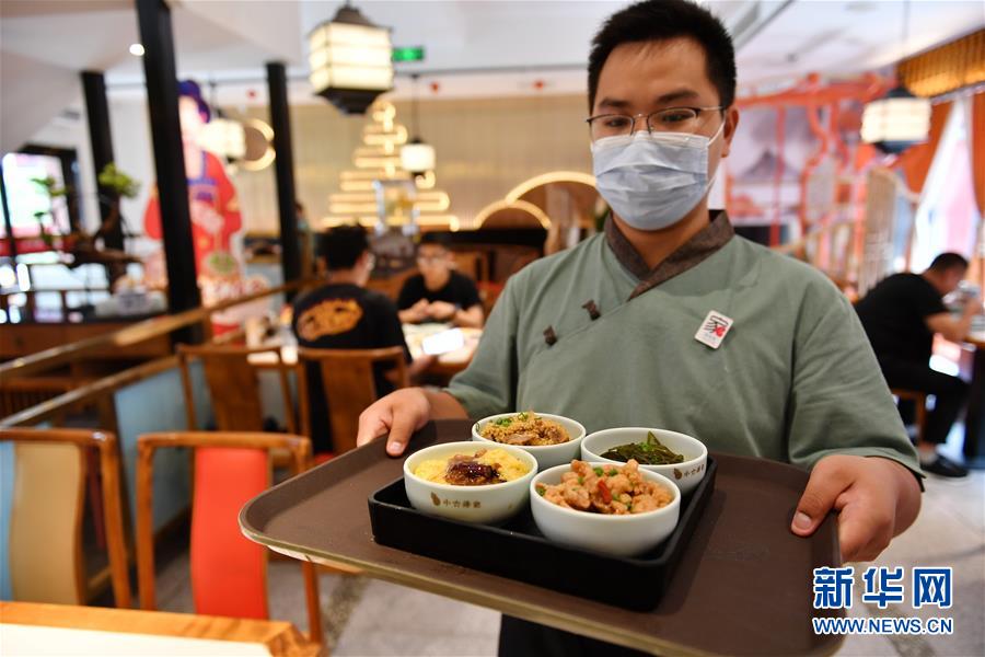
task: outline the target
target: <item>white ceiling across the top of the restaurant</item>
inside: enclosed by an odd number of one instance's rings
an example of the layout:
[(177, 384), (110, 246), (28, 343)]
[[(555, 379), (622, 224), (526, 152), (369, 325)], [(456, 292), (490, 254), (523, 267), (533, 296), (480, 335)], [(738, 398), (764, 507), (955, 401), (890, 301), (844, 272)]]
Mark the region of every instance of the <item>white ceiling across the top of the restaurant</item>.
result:
[[(288, 64), (292, 102), (322, 102), (304, 81), (304, 36), (331, 19), (341, 2), (169, 3), (179, 76), (218, 81), (218, 102), (265, 103), (264, 64), (270, 60)], [(392, 28), (394, 45), (426, 48), (424, 62), (397, 66), (396, 96), (409, 94), (408, 76), (420, 72), (424, 93), (461, 97), (582, 93), (591, 37), (605, 16), (627, 2), (357, 0), (356, 4), (369, 19)], [(746, 88), (780, 84), (808, 72), (844, 76), (879, 69), (985, 25), (982, 0), (911, 2), (905, 42), (907, 5), (902, 1), (705, 0), (704, 4), (732, 31), (740, 83)], [(22, 132), (28, 124), (44, 125), (53, 106), (81, 103), (80, 70), (105, 71), (115, 96), (142, 95), (142, 62), (128, 53), (137, 41), (132, 0), (0, 1), (4, 148), (9, 132)], [(47, 84), (38, 84), (39, 79)], [(33, 110), (25, 112), (28, 107)]]

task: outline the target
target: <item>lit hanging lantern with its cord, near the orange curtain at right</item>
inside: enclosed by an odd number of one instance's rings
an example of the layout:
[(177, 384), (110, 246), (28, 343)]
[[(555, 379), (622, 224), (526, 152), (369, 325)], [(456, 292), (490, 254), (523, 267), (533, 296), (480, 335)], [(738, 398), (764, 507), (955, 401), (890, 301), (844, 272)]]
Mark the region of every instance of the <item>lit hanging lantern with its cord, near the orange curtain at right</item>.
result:
[[(903, 53), (907, 51), (909, 0), (903, 5)], [(862, 111), (861, 138), (884, 153), (902, 153), (911, 146), (927, 140), (930, 132), (930, 101), (920, 99), (905, 87), (890, 90)]]

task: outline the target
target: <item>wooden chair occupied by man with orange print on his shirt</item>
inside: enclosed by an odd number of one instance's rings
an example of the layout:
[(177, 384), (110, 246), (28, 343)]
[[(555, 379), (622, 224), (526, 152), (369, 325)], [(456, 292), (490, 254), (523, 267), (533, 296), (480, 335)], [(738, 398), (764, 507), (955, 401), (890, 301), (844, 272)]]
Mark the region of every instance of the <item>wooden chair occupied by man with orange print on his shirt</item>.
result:
[(396, 388), (409, 385), (404, 347), (380, 349), (298, 349), (298, 399), (301, 408), (301, 433), (311, 436), (308, 365), (314, 364), (322, 374), (334, 453), (356, 447), (359, 415), (379, 399), (373, 366), (392, 364), (387, 376)]

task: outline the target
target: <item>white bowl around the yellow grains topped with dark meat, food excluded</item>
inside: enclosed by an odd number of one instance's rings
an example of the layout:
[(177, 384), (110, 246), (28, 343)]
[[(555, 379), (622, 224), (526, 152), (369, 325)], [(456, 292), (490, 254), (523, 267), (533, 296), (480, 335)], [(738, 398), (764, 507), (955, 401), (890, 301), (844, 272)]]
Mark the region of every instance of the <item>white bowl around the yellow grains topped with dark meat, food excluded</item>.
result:
[(441, 516), (465, 522), (502, 522), (528, 504), (530, 481), (537, 473), (537, 461), (532, 456), (509, 445), (497, 445), (530, 468), (523, 476), (501, 484), (480, 486), (453, 486), (422, 480), (414, 471), (422, 461), (448, 459), (455, 454), (474, 454), (485, 445), (471, 441), (443, 442), (416, 451), (404, 461), (404, 487), (415, 509), (431, 516)]

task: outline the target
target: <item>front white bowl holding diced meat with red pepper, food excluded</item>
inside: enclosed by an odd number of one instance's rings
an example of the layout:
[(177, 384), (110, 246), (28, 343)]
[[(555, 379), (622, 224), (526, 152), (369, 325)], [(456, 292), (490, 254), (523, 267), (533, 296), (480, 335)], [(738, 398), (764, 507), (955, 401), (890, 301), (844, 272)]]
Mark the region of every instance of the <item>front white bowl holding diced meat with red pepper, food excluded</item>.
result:
[[(604, 465), (607, 463), (590, 463)], [(558, 484), (561, 474), (570, 470), (570, 463), (541, 472), (530, 482), (530, 510), (545, 537), (552, 541), (584, 548), (616, 556), (635, 556), (656, 548), (677, 526), (681, 515), (681, 491), (665, 476), (640, 470), (651, 482), (657, 482), (674, 495), (674, 499), (661, 509), (627, 516), (607, 516), (566, 509), (547, 502), (536, 492), (537, 484)]]

